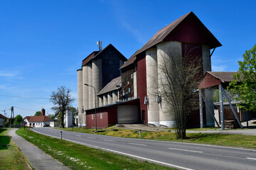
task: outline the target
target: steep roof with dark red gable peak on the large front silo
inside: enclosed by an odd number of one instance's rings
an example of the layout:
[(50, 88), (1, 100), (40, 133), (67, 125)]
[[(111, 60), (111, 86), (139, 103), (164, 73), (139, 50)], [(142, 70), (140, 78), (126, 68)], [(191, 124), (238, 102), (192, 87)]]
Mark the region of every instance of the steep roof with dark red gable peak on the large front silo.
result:
[[(181, 23), (184, 22), (187, 22), (189, 24), (189, 27), (185, 26), (177, 32), (176, 30), (178, 29), (178, 26), (181, 26)], [(208, 28), (206, 28), (206, 26), (204, 26), (203, 23), (198, 19), (198, 17), (191, 11), (189, 13), (186, 13), (184, 16), (181, 16), (181, 18), (178, 18), (176, 21), (170, 23), (168, 26), (159, 30), (148, 42), (146, 42), (146, 44), (142, 48), (137, 50), (137, 52), (135, 52), (134, 55), (129, 58), (129, 60), (136, 60), (137, 55), (144, 52), (145, 50), (148, 50), (150, 47), (154, 47), (154, 45), (158, 44), (159, 42), (175, 40), (175, 38), (169, 37), (169, 35), (171, 35), (172, 33), (174, 33), (175, 35), (181, 35), (183, 33), (192, 35), (191, 25), (196, 24), (198, 26), (195, 26), (195, 29), (198, 29), (198, 31), (202, 34), (201, 38), (205, 39), (204, 44), (210, 45), (210, 48), (221, 46), (220, 42), (214, 37), (212, 33), (210, 33), (210, 30), (208, 30)], [(171, 35), (171, 37), (175, 37), (175, 35)], [(185, 39), (187, 42), (190, 42), (190, 38)], [(129, 64), (131, 64), (132, 61), (129, 60), (125, 62), (122, 67), (120, 67), (120, 69), (127, 67)]]

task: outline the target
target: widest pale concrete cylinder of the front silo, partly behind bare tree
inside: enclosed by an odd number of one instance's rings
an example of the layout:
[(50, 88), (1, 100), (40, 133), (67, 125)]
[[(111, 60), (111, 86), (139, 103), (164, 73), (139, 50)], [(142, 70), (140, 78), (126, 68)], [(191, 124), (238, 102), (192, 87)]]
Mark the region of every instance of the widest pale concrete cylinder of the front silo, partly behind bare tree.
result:
[[(181, 42), (161, 42), (157, 45), (157, 65), (158, 65), (158, 79), (159, 79), (159, 95), (161, 96), (161, 103), (159, 103), (159, 123), (167, 127), (173, 127), (175, 125), (174, 111), (171, 106), (165, 101), (164, 86), (168, 86), (166, 79), (166, 72), (170, 72), (174, 69), (174, 65), (171, 65), (171, 58), (180, 62), (182, 60), (182, 48)], [(168, 88), (166, 89), (167, 93)]]

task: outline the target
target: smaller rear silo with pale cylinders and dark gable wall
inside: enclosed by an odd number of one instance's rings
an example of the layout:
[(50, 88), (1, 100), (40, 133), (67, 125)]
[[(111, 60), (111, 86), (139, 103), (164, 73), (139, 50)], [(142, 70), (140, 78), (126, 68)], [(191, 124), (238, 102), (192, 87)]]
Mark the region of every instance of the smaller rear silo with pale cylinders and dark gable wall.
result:
[[(107, 105), (107, 96), (99, 98), (97, 94), (112, 79), (120, 76), (120, 64), (127, 59), (113, 46), (107, 45), (103, 50), (94, 51), (84, 60), (82, 67), (78, 69), (78, 124), (86, 125), (86, 113), (96, 107)], [(88, 84), (90, 86), (85, 86)], [(92, 88), (95, 88), (95, 90)], [(112, 94), (111, 94), (112, 96)], [(112, 103), (112, 98), (110, 98)], [(82, 113), (82, 108), (84, 113)]]

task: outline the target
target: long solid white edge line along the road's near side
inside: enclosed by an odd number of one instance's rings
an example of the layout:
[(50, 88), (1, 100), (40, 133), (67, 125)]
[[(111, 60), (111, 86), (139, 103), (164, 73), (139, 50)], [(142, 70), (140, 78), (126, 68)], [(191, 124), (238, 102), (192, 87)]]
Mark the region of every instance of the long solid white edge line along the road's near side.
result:
[[(41, 132), (38, 132), (42, 135), (46, 135), (46, 134), (43, 134)], [(55, 137), (55, 136), (52, 136), (52, 135), (47, 135), (47, 136), (50, 136), (50, 137)], [(55, 137), (55, 138), (58, 138), (58, 137)], [(90, 137), (92, 138), (92, 137)], [(172, 166), (172, 167), (175, 167), (175, 168), (178, 168), (178, 169), (184, 169), (184, 170), (194, 170), (194, 169), (188, 169), (188, 168), (185, 168), (183, 166), (177, 166), (177, 165), (174, 165), (174, 164), (168, 164), (168, 163), (165, 163), (165, 162), (159, 162), (159, 161), (156, 161), (154, 159), (148, 159), (148, 158), (144, 158), (144, 157), (139, 157), (139, 156), (136, 156), (136, 155), (133, 155), (133, 154), (127, 154), (127, 153), (124, 153), (124, 152), (118, 152), (118, 151), (115, 151), (115, 150), (112, 150), (112, 149), (106, 149), (104, 147), (97, 147), (97, 146), (94, 146), (94, 145), (89, 145), (89, 144), (85, 144), (85, 143), (82, 143), (82, 142), (76, 142), (74, 140), (68, 140), (68, 139), (64, 139), (63, 140), (67, 140), (67, 141), (70, 141), (70, 142), (74, 142), (74, 143), (77, 143), (77, 144), (80, 144), (80, 145), (85, 145), (85, 146), (88, 146), (88, 147), (94, 147), (94, 148), (98, 148), (98, 149), (103, 149), (103, 150), (106, 150), (106, 151), (110, 151), (110, 152), (114, 152), (114, 153), (117, 153), (117, 154), (123, 154), (123, 155), (127, 155), (128, 157), (134, 157), (134, 158), (137, 158), (137, 159), (143, 159), (143, 160), (146, 160), (146, 161), (149, 161), (149, 162), (155, 162), (156, 164), (164, 164), (166, 166)]]

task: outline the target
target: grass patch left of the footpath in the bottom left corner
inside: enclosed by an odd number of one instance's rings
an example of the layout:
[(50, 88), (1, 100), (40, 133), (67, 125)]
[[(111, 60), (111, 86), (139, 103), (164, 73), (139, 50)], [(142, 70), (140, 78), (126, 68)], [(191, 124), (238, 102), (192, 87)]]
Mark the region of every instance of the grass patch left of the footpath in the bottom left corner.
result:
[[(26, 157), (11, 140), (8, 131), (9, 129), (0, 128), (0, 169), (29, 169)], [(3, 145), (11, 146), (3, 147)]]

